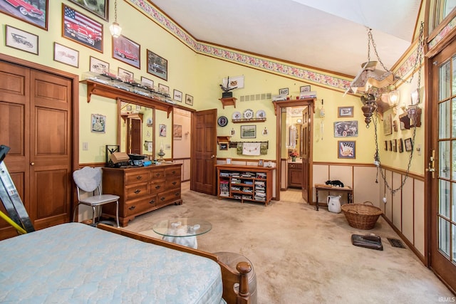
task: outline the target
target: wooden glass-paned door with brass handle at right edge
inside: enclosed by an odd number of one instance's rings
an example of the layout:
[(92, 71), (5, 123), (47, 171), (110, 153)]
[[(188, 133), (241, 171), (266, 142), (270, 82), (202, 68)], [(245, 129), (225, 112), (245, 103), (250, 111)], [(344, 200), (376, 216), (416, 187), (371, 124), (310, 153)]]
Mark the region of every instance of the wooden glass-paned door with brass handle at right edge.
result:
[(426, 163), (435, 168), (425, 181), (430, 194), (430, 267), (456, 290), (456, 40), (430, 61)]

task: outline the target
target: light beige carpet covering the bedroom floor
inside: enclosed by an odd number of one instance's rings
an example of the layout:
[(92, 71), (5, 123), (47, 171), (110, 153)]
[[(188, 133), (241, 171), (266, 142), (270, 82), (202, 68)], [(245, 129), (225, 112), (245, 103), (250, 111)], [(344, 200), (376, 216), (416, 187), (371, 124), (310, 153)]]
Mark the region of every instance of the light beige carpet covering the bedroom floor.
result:
[[(258, 303), (439, 303), (454, 297), (410, 249), (390, 246), (386, 238), (399, 237), (381, 217), (373, 230), (363, 231), (348, 226), (343, 214), (315, 211), (299, 190), (264, 206), (188, 187), (182, 184), (181, 206), (138, 216), (125, 229), (160, 238), (147, 231), (156, 221), (210, 221), (212, 231), (198, 237), (198, 248), (247, 256), (257, 273)], [(381, 236), (383, 251), (351, 244), (351, 234), (369, 233)]]

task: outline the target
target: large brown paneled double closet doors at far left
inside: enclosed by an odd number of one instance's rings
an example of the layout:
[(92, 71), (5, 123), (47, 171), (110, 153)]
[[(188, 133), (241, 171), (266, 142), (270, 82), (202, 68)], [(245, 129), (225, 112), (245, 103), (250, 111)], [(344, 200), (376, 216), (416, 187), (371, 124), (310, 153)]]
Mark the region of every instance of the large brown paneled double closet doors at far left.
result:
[[(71, 216), (73, 124), (68, 78), (0, 61), (0, 142), (35, 229)], [(0, 238), (16, 231), (3, 222)]]

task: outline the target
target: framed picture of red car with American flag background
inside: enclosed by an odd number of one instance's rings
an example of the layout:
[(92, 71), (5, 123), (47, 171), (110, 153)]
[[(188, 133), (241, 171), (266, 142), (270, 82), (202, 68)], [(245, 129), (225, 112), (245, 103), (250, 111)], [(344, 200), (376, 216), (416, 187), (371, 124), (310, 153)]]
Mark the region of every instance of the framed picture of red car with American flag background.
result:
[(62, 36), (103, 53), (103, 24), (63, 6)]

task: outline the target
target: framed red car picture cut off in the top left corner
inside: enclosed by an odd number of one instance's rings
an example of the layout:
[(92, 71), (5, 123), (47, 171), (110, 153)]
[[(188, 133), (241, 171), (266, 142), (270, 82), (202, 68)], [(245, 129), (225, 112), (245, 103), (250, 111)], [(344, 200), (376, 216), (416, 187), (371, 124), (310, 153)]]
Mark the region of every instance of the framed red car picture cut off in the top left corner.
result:
[[(0, 12), (38, 28), (48, 30), (48, 1), (0, 1)], [(24, 6), (14, 2), (25, 2)], [(30, 3), (31, 2), (31, 3)]]

